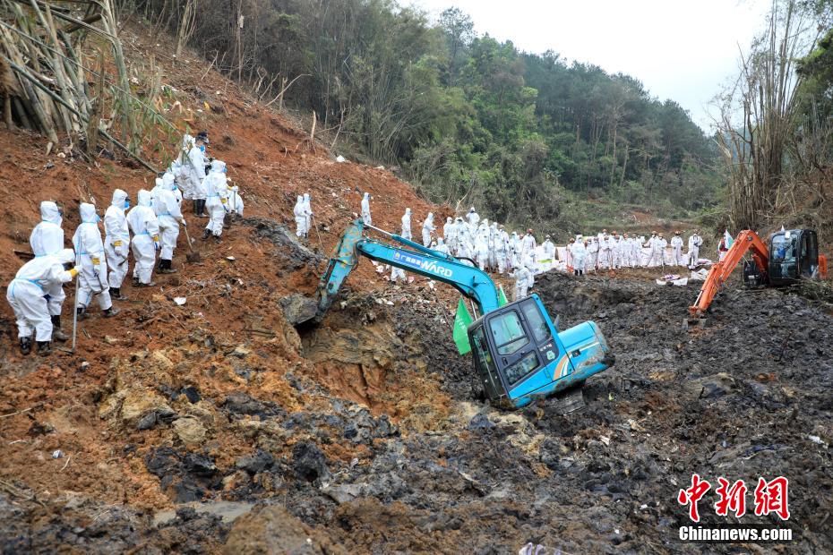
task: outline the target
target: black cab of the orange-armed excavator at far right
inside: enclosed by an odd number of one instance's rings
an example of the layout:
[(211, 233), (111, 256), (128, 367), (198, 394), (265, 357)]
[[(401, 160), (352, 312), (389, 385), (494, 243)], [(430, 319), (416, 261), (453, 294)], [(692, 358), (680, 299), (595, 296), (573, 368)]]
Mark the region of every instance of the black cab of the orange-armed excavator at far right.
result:
[(784, 286), (817, 277), (819, 239), (812, 229), (779, 231), (769, 238), (769, 284)]

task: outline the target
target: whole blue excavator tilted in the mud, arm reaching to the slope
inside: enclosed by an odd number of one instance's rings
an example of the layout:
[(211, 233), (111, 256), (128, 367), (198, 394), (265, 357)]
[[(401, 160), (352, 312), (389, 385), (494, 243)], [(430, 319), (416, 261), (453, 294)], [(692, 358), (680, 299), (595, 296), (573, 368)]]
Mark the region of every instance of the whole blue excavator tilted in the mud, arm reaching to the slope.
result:
[[(365, 236), (365, 228), (386, 235), (401, 246)], [(537, 398), (581, 386), (593, 374), (610, 368), (614, 355), (595, 322), (557, 329), (538, 295), (501, 305), (492, 278), (450, 254), (425, 248), (361, 219), (341, 235), (321, 277), (314, 320), (321, 322), (358, 257), (365, 256), (457, 289), (476, 306), (477, 319), (468, 326), (475, 371), (493, 404), (527, 406)]]

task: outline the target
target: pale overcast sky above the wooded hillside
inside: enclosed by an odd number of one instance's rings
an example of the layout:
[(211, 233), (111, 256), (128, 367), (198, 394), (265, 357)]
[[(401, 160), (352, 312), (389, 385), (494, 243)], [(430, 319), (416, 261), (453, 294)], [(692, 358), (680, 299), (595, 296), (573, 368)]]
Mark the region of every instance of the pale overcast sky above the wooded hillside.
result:
[(400, 0), (436, 18), (456, 6), (477, 34), (527, 52), (628, 73), (662, 100), (674, 99), (708, 131), (711, 99), (738, 70), (763, 29), (768, 0)]

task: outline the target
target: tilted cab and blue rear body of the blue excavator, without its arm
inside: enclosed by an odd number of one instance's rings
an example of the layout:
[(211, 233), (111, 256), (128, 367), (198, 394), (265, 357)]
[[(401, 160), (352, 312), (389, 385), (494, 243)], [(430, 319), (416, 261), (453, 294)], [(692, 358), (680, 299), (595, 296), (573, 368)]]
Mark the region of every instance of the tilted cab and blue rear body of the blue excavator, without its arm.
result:
[(478, 318), (468, 340), (486, 395), (513, 407), (579, 385), (614, 363), (595, 323), (559, 333), (537, 295)]

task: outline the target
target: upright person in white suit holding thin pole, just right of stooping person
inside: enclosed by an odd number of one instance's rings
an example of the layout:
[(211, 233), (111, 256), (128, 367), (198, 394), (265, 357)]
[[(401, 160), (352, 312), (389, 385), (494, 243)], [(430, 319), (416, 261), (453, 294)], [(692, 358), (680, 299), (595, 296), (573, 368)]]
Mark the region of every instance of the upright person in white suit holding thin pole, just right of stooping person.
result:
[(119, 310), (114, 308), (110, 299), (110, 286), (107, 284), (107, 256), (104, 253), (104, 242), (101, 241), (99, 231), (99, 216), (96, 207), (88, 202), (82, 202), (79, 208), (81, 224), (75, 229), (73, 247), (81, 262), (78, 274), (78, 304), (75, 311), (78, 318), (87, 315), (92, 297), (96, 297), (99, 307), (106, 318), (115, 316)]

